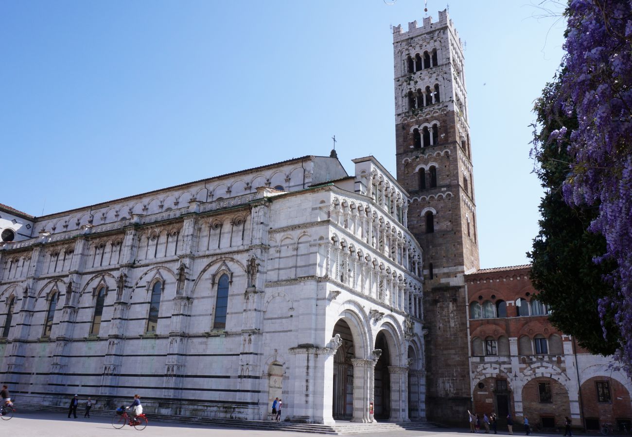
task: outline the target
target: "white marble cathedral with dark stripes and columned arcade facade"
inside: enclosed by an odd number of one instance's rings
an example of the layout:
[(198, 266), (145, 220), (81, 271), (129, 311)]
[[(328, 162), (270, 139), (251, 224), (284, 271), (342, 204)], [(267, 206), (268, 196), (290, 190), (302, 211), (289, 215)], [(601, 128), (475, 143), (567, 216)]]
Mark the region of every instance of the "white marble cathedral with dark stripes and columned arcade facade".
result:
[[(422, 251), (373, 157), (306, 156), (76, 210), (0, 205), (21, 403), (331, 423), (425, 417)], [(7, 230), (7, 232), (4, 232)]]

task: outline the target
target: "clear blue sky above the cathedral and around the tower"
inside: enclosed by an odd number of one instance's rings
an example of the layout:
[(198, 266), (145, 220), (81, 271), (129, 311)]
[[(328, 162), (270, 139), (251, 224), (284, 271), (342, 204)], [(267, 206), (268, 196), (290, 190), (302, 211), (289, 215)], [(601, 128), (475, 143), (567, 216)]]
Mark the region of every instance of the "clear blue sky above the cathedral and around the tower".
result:
[[(528, 124), (564, 23), (526, 3), (449, 2), (483, 268), (525, 263), (537, 233)], [(328, 155), (334, 134), (348, 171), (372, 154), (394, 173), (389, 25), (423, 16), (421, 0), (0, 2), (0, 203), (58, 212)]]

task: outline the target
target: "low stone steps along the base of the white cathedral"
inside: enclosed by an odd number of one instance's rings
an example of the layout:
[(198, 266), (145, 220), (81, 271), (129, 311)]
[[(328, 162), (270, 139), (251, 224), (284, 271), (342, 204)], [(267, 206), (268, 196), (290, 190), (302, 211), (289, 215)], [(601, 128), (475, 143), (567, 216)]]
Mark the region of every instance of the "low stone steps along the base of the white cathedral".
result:
[[(68, 414), (68, 408), (66, 407), (53, 407), (50, 405), (16, 405), (18, 411), (20, 408), (37, 411), (57, 412), (59, 414)], [(90, 410), (92, 416), (98, 417), (111, 417), (114, 416), (114, 412), (106, 410)], [(83, 410), (77, 410), (77, 416), (83, 415)], [(393, 423), (393, 422), (374, 422), (374, 423), (356, 423), (341, 421), (336, 424), (320, 425), (311, 423), (295, 423), (289, 421), (274, 422), (274, 421), (243, 421), (238, 419), (219, 419), (209, 417), (197, 417), (197, 416), (154, 416), (148, 413), (149, 423), (152, 421), (157, 422), (173, 422), (181, 424), (191, 424), (197, 426), (226, 426), (229, 428), (242, 428), (242, 429), (259, 429), (270, 431), (293, 431), (295, 433), (312, 433), (312, 434), (360, 434), (360, 433), (386, 433), (392, 431), (403, 431), (406, 429), (429, 429), (437, 428), (438, 424), (426, 421)]]

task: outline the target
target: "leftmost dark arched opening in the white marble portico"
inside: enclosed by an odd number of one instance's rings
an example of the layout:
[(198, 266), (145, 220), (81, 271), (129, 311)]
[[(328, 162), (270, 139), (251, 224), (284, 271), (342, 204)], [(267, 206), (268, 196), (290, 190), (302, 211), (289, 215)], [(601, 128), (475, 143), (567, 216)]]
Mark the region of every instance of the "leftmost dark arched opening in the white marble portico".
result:
[(353, 335), (344, 320), (338, 320), (334, 326), (332, 337), (336, 334), (340, 334), (342, 344), (334, 356), (332, 416), (334, 419), (351, 419), (353, 416), (353, 364), (351, 360), (355, 358)]

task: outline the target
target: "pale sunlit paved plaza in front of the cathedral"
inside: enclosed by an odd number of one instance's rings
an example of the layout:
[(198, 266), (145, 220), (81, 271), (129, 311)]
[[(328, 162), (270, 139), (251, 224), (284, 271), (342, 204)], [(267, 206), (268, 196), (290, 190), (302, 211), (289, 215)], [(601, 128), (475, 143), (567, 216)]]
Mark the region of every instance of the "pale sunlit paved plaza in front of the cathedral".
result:
[[(139, 434), (142, 433), (142, 434)], [(307, 437), (308, 433), (291, 433), (285, 431), (258, 431), (253, 429), (222, 428), (213, 426), (197, 426), (173, 424), (151, 420), (149, 426), (143, 431), (137, 431), (130, 426), (123, 429), (114, 429), (111, 425), (111, 418), (93, 416), (84, 419), (82, 416), (77, 419), (68, 419), (64, 413), (35, 412), (30, 410), (18, 410), (15, 417), (10, 421), (0, 421), (0, 434), (11, 436), (46, 436), (46, 437), (125, 437), (125, 436), (212, 436), (212, 437)], [(397, 431), (387, 433), (364, 433), (351, 434), (358, 437), (442, 437), (461, 436), (465, 437), (468, 429), (445, 429), (437, 428), (425, 431)], [(516, 435), (523, 435), (520, 431)], [(499, 435), (507, 435), (506, 432), (499, 432)], [(533, 434), (535, 436), (553, 436), (561, 434)]]

